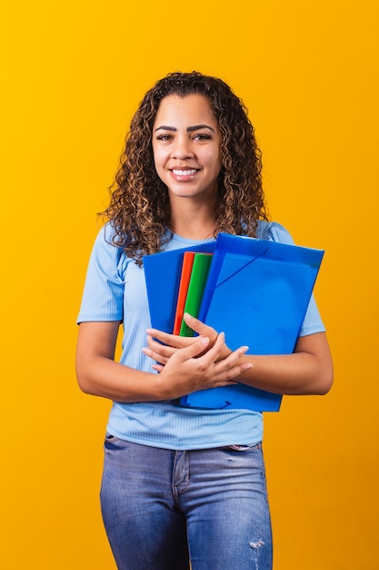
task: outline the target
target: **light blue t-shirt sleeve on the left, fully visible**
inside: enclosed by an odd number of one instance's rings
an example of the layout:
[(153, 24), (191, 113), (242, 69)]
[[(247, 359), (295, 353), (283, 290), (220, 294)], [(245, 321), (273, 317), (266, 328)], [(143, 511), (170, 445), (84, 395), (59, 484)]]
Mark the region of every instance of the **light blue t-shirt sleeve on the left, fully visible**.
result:
[(111, 243), (111, 232), (106, 225), (95, 239), (77, 323), (123, 320), (124, 282), (119, 269), (125, 254)]

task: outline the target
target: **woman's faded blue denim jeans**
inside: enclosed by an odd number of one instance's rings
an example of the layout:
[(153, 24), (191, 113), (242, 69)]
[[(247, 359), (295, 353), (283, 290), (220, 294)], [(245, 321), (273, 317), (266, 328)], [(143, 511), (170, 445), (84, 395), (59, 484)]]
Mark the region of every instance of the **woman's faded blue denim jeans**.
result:
[(119, 570), (271, 570), (261, 445), (175, 452), (107, 434), (101, 489)]

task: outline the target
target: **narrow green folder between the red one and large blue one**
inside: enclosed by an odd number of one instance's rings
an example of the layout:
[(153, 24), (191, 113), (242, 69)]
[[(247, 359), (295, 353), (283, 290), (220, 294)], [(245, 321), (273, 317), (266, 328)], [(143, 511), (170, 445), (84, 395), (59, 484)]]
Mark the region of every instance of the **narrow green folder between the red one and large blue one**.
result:
[[(211, 261), (212, 255), (209, 253), (194, 254), (194, 265), (192, 266), (191, 279), (185, 299), (185, 312), (188, 312), (192, 317), (197, 317), (199, 313)], [(182, 321), (179, 334), (183, 337), (193, 337), (194, 331), (185, 324), (185, 321)]]

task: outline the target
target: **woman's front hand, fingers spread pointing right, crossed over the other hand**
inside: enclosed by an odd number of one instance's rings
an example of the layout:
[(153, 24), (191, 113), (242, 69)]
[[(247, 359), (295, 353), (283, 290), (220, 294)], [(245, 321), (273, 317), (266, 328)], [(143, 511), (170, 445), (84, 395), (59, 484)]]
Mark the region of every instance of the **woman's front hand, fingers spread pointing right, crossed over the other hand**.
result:
[[(162, 357), (162, 351), (156, 352), (150, 348), (143, 349), (146, 356), (155, 361), (165, 360), (164, 364), (153, 366), (155, 371), (159, 372), (160, 390), (165, 394), (165, 399), (178, 398), (187, 393), (205, 390), (206, 388), (235, 384), (237, 383), (235, 379), (252, 367), (251, 363), (239, 363), (240, 358), (247, 351), (248, 347), (246, 346), (242, 346), (236, 351), (230, 352), (226, 358), (222, 358), (222, 351), (225, 346), (224, 332), (217, 335), (214, 346), (209, 350), (207, 350), (210, 343), (209, 338), (195, 337), (191, 341), (184, 348), (176, 348), (169, 357)], [(168, 348), (170, 349), (170, 347)]]

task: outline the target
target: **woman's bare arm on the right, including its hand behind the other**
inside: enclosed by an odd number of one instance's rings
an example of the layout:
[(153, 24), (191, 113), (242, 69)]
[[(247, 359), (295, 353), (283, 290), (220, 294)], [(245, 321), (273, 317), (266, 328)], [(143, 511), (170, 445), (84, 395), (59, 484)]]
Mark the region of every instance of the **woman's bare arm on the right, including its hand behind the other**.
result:
[[(216, 341), (217, 332), (201, 321), (185, 315), (187, 324), (199, 334), (210, 339), (210, 345)], [(195, 338), (175, 337), (151, 330), (148, 337), (151, 358), (165, 364), (175, 350), (195, 341)], [(154, 340), (163, 341), (163, 346)], [(230, 349), (224, 343), (220, 358), (225, 358)], [(250, 363), (252, 367), (243, 372), (238, 382), (244, 382), (254, 388), (282, 394), (324, 394), (333, 383), (333, 363), (324, 332), (301, 337), (293, 354), (259, 356), (244, 354), (241, 363)], [(162, 367), (156, 367), (162, 370)]]

